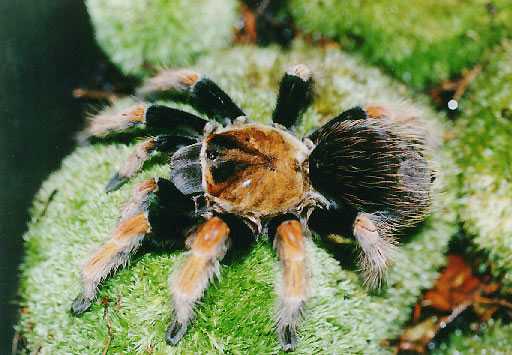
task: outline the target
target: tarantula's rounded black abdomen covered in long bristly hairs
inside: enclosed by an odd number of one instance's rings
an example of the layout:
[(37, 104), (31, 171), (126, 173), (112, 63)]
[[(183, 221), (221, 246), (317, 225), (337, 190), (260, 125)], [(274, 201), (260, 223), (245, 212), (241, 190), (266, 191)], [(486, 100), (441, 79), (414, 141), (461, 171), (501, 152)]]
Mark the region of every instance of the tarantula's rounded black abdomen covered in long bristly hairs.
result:
[(385, 109), (378, 118), (358, 110), (361, 117), (342, 114), (312, 135), (312, 185), (358, 211), (392, 215), (395, 230), (414, 225), (431, 205), (424, 125), (410, 110)]

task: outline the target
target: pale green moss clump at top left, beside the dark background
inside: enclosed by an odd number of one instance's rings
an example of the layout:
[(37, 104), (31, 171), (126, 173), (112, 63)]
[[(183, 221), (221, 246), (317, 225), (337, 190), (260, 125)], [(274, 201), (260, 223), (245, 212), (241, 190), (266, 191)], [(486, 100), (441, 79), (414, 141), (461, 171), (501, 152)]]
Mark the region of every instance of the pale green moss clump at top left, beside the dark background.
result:
[(227, 47), (235, 0), (87, 0), (96, 38), (126, 74), (191, 64)]

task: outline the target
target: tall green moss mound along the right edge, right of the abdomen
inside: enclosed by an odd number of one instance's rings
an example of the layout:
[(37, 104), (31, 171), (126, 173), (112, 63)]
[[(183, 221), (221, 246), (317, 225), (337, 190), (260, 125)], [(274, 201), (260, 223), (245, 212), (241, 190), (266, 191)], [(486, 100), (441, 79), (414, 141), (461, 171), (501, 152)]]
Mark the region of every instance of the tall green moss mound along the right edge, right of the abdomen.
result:
[(503, 43), (488, 62), (464, 97), (452, 148), (463, 226), (512, 286), (512, 43)]

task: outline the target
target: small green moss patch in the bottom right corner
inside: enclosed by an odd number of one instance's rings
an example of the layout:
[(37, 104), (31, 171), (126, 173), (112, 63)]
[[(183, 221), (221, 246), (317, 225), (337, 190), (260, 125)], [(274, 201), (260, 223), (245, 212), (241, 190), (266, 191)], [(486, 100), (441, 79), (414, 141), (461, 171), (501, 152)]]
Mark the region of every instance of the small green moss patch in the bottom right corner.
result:
[(489, 321), (476, 334), (456, 331), (434, 354), (510, 354), (512, 349), (512, 324)]

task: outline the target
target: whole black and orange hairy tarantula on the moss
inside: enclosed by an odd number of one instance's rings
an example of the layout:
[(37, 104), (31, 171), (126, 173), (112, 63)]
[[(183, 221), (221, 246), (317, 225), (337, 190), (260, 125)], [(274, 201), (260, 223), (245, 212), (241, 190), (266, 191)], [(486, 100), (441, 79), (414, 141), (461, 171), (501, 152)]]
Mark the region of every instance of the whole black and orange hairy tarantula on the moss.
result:
[(430, 209), (433, 173), (425, 132), (408, 107), (370, 105), (345, 111), (299, 139), (291, 129), (312, 103), (312, 84), (305, 65), (289, 69), (280, 82), (273, 123), (261, 124), (207, 77), (165, 70), (138, 94), (185, 100), (213, 121), (156, 104), (94, 117), (86, 130), (90, 136), (131, 127), (165, 133), (139, 143), (107, 191), (135, 175), (156, 151), (170, 154), (170, 179), (152, 178), (135, 187), (111, 239), (84, 265), (83, 292), (72, 312), (90, 307), (100, 282), (126, 264), (148, 235), (175, 240), (183, 233), (190, 251), (170, 277), (173, 321), (165, 335), (175, 345), (193, 318), (194, 305), (219, 274), (231, 241), (246, 238), (245, 232), (267, 232), (275, 236), (282, 269), (277, 333), (283, 349), (293, 349), (309, 294), (305, 240), (312, 218), (322, 220), (322, 215), (335, 221), (324, 224), (324, 232), (332, 227), (355, 238), (364, 282), (379, 286), (396, 236)]

